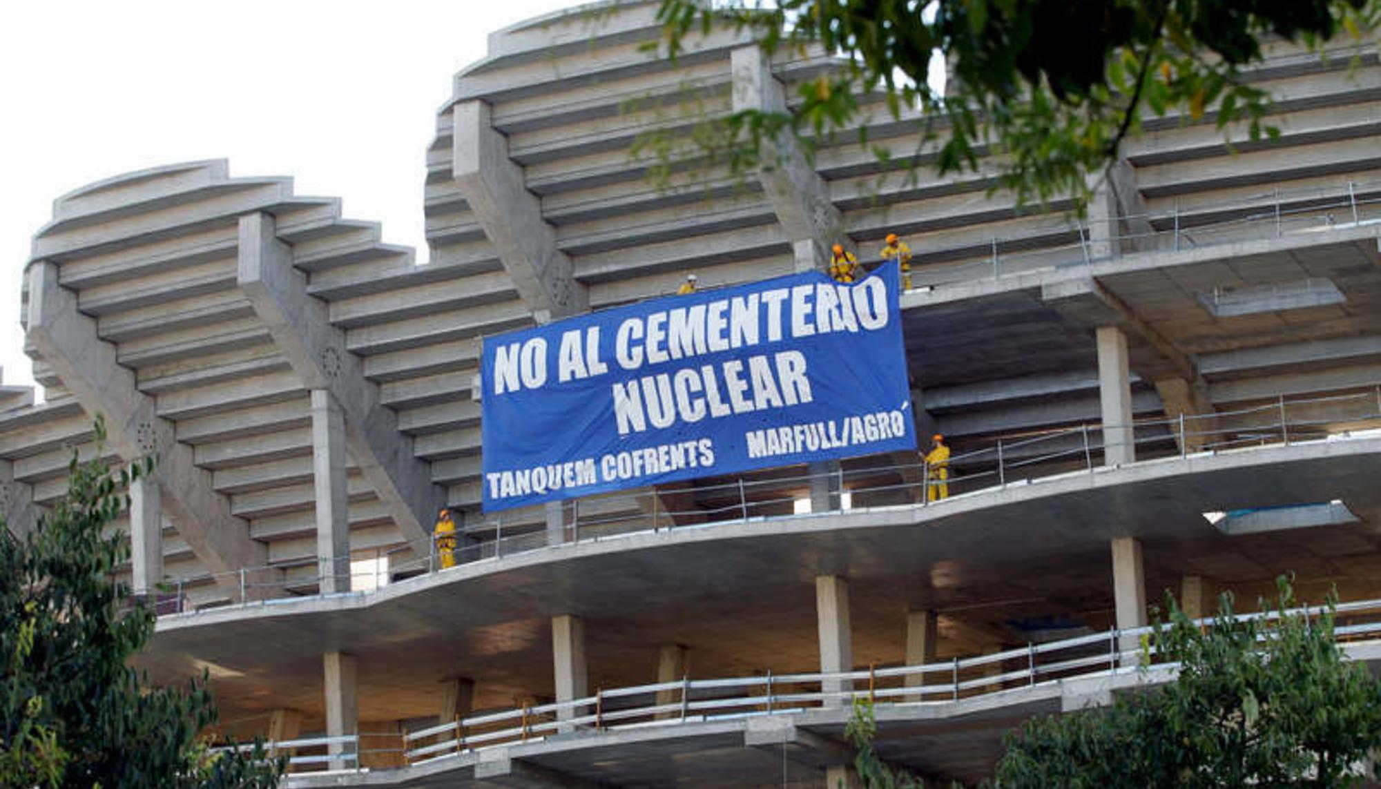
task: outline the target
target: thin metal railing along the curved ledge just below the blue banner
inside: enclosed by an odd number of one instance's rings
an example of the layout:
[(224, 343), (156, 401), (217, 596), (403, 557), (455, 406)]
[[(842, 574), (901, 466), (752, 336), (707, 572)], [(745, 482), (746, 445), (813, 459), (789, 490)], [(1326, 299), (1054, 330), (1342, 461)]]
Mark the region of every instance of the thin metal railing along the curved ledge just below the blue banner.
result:
[[(1276, 396), (1251, 408), (1135, 419), (1130, 425), (1080, 423), (1029, 430), (953, 454), (945, 465), (945, 479), (940, 479), (938, 469), (917, 457), (910, 462), (874, 462), (848, 469), (834, 463), (824, 473), (773, 472), (758, 477), (740, 476), (696, 484), (685, 491), (652, 490), (568, 499), (562, 502), (561, 528), (534, 523), (530, 513), (497, 513), (454, 532), (457, 541), (476, 537), (486, 539), (460, 545), (449, 552), (439, 550), (434, 542), (428, 556), (406, 560), (395, 557), (409, 553), (410, 548), (395, 548), (383, 555), (385, 561), (378, 561), (367, 578), (359, 577), (367, 583), (358, 586), (378, 589), (476, 561), (632, 534), (888, 506), (943, 506), (947, 499), (1092, 473), (1106, 468), (1109, 455), (1116, 457), (1128, 450), (1141, 462), (1302, 441), (1346, 440), (1353, 433), (1334, 432), (1334, 426), (1340, 423), (1349, 430), (1381, 428), (1381, 385), (1324, 397)], [(1130, 441), (1119, 441), (1116, 436), (1130, 436)], [(873, 459), (878, 458), (882, 457)], [(812, 499), (808, 492), (812, 487), (827, 492)], [(682, 506), (677, 503), (678, 497), (693, 501)], [(514, 517), (521, 520), (510, 520)], [(300, 563), (246, 567), (235, 572), (178, 579), (167, 585), (171, 595), (160, 595), (157, 611), (160, 615), (195, 614), (195, 607), (186, 599), (186, 586), (192, 583), (221, 582), (222, 586), (229, 586), (231, 604), (273, 604), (300, 599), (301, 595), (318, 595), (313, 586), (325, 575), (311, 563)], [(282, 597), (284, 592), (296, 592), (298, 597)]]

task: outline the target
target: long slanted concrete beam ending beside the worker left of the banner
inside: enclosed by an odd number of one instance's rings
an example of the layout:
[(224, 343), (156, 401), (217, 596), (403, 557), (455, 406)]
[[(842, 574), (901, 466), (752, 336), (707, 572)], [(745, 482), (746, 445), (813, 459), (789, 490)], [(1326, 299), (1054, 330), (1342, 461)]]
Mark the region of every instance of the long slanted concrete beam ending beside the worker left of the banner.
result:
[(349, 457), (403, 539), (427, 556), (446, 492), (432, 484), (428, 463), (413, 455), (412, 437), (398, 430), (398, 414), (380, 403), (378, 386), (365, 378), (363, 363), (347, 349), (345, 332), (331, 326), (326, 303), (308, 295), (307, 277), (293, 268), (291, 248), (275, 233), (268, 214), (240, 218), (240, 292), (304, 386), (330, 392), (340, 403)]

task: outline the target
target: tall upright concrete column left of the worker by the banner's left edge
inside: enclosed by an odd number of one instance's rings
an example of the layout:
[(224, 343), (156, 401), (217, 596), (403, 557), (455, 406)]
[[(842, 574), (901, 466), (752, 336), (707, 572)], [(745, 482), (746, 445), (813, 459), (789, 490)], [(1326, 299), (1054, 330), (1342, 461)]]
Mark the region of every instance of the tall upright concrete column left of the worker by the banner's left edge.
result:
[(349, 503), (345, 497), (345, 419), (325, 389), (312, 390), (312, 481), (322, 595), (349, 592)]

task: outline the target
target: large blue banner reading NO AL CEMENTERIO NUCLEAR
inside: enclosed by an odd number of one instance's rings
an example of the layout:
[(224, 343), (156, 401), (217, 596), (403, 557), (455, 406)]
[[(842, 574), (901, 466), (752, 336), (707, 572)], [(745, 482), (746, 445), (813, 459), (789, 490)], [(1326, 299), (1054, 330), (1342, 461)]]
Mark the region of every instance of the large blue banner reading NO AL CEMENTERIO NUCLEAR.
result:
[(916, 450), (895, 262), (485, 338), (485, 510)]

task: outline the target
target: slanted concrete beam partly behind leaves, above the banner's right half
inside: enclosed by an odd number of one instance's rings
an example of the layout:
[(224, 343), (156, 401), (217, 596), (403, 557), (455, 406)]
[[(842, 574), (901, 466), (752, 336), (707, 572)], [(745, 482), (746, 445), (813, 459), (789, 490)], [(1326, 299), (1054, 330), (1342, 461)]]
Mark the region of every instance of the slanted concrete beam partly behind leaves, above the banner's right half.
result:
[[(772, 62), (758, 46), (731, 54), (733, 112), (786, 112), (786, 91), (772, 74)], [(758, 150), (758, 181), (772, 201), (787, 240), (793, 243), (797, 270), (819, 268), (830, 259), (830, 246), (853, 241), (844, 234), (844, 215), (830, 201), (830, 188), (805, 159), (791, 130), (764, 139)], [(811, 241), (804, 247), (801, 241)]]

